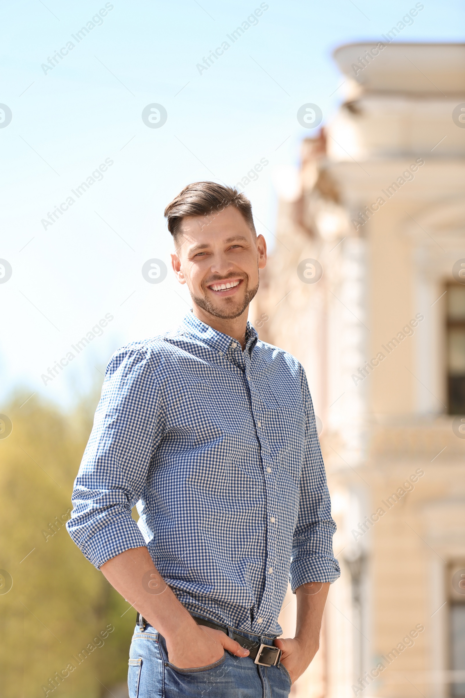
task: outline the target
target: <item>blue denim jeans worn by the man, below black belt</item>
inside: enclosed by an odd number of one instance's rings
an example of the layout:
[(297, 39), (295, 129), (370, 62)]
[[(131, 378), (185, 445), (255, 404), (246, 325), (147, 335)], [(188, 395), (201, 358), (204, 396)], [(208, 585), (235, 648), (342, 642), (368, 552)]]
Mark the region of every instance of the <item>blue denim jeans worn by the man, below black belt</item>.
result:
[[(240, 632), (258, 644), (273, 644), (272, 637)], [(291, 678), (281, 663), (261, 667), (250, 657), (228, 651), (207, 667), (178, 669), (168, 661), (165, 638), (151, 625), (144, 631), (136, 625), (129, 657), (130, 698), (287, 698), (291, 690)]]

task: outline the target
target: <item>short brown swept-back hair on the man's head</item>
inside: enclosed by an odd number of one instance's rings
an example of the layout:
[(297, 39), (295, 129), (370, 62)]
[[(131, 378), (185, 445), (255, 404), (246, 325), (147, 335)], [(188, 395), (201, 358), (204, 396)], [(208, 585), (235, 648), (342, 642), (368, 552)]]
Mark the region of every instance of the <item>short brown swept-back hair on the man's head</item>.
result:
[(220, 213), (227, 206), (234, 206), (243, 215), (250, 230), (257, 235), (252, 217), (252, 205), (245, 194), (235, 187), (222, 186), (214, 181), (195, 181), (178, 193), (165, 209), (168, 230), (176, 242), (185, 216), (210, 217), (217, 212)]

